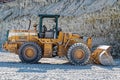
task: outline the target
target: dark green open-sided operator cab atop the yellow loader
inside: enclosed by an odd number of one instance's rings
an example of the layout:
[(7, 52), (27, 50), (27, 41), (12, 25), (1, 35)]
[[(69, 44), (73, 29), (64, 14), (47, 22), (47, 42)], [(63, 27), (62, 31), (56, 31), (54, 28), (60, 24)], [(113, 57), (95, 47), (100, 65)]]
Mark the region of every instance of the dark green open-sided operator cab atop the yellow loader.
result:
[[(51, 15), (51, 14), (40, 14), (40, 22), (39, 22), (39, 38), (52, 38), (57, 39), (59, 31), (62, 29), (58, 28), (58, 18), (60, 15)], [(52, 26), (52, 28), (48, 29), (48, 26), (43, 25), (43, 19), (44, 18), (53, 18), (55, 24)]]

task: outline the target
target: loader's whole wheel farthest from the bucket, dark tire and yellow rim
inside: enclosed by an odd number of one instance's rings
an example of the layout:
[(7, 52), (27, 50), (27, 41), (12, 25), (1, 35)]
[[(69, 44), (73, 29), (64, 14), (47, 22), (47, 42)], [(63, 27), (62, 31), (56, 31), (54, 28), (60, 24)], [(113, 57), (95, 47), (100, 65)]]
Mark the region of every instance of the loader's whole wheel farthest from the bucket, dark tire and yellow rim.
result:
[(37, 63), (42, 58), (42, 49), (35, 42), (24, 43), (18, 53), (24, 63)]

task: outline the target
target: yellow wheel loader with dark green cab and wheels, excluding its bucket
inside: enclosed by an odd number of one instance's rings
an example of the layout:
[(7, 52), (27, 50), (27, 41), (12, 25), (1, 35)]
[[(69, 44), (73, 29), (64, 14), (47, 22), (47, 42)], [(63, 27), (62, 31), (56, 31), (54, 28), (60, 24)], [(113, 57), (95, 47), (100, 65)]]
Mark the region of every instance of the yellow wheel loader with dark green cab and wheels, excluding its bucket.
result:
[[(24, 63), (37, 63), (41, 58), (66, 56), (74, 65), (86, 64), (90, 59), (92, 38), (86, 41), (75, 33), (63, 32), (58, 27), (60, 15), (40, 14), (39, 25), (34, 24), (34, 30), (10, 30), (8, 39), (3, 44), (7, 51), (19, 55)], [(44, 18), (54, 19), (51, 29), (43, 25)]]

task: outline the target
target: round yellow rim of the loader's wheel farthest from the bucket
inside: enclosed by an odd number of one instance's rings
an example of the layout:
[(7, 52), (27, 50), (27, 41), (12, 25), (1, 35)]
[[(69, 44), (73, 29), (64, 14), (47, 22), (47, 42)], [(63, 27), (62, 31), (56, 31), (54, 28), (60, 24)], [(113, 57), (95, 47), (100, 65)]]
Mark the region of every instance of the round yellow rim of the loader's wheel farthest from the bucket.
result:
[(27, 47), (24, 54), (27, 58), (33, 58), (35, 56), (35, 49), (33, 47)]

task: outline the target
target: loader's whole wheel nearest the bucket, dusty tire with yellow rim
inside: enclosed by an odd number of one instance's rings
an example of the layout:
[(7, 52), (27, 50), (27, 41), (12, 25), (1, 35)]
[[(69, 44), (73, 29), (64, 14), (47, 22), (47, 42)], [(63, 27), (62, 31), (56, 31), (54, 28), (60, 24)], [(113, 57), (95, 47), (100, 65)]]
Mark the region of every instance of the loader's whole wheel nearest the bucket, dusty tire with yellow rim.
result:
[(89, 61), (90, 53), (85, 44), (75, 43), (68, 49), (67, 58), (74, 65), (84, 65)]

